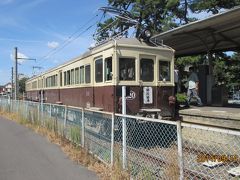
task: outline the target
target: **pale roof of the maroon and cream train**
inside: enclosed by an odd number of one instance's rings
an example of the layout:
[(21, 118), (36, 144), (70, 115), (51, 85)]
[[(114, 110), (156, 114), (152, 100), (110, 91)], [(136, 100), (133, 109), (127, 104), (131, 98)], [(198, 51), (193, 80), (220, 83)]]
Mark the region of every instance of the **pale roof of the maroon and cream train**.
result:
[(138, 47), (138, 48), (153, 48), (153, 49), (159, 49), (159, 50), (166, 50), (166, 51), (172, 51), (174, 52), (174, 50), (168, 46), (156, 46), (154, 44), (151, 44), (151, 43), (147, 43), (145, 41), (141, 41), (137, 38), (121, 38), (121, 39), (112, 39), (112, 40), (109, 40), (105, 43), (102, 43), (102, 44), (99, 44), (99, 45), (96, 45), (95, 47), (92, 47), (92, 48), (89, 48), (88, 51), (86, 51), (85, 53), (81, 54), (80, 56), (78, 57), (75, 57), (69, 61), (66, 61), (64, 62), (63, 64), (60, 64), (58, 65), (57, 67), (53, 67), (39, 75), (36, 75), (30, 79), (27, 80), (28, 81), (31, 81), (33, 79), (36, 79), (38, 78), (39, 76), (42, 76), (44, 74), (47, 74), (47, 73), (50, 73), (52, 71), (55, 71), (57, 69), (60, 69), (64, 66), (67, 66), (71, 63), (74, 63), (80, 59), (83, 59), (85, 57), (88, 57), (92, 54), (95, 54), (95, 53), (98, 53), (102, 50), (105, 50), (105, 49), (109, 49), (109, 48), (112, 48), (115, 46), (115, 44), (119, 47), (119, 46), (122, 46), (122, 47)]

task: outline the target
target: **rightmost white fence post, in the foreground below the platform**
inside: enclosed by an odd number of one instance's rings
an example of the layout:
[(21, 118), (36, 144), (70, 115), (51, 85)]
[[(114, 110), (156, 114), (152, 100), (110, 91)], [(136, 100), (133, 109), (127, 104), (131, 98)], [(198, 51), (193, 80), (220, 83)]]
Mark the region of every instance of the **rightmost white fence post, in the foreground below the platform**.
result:
[(184, 179), (184, 170), (183, 170), (183, 149), (182, 149), (182, 127), (181, 121), (177, 121), (177, 141), (178, 141), (178, 164), (180, 170), (180, 180)]

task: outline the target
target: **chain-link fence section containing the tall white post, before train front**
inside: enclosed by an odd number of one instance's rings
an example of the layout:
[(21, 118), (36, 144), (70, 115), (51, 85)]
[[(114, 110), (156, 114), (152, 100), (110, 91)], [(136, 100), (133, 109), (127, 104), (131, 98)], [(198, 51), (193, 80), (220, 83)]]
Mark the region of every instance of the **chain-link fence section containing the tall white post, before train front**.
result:
[(116, 156), (134, 179), (178, 178), (176, 122), (116, 115)]

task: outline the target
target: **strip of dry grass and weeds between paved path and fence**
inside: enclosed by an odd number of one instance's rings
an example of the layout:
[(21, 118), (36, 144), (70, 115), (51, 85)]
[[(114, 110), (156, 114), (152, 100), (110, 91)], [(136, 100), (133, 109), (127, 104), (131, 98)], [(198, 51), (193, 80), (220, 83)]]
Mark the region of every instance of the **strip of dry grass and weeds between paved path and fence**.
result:
[(79, 143), (77, 143), (81, 140), (81, 131), (79, 127), (70, 127), (70, 141), (66, 138), (66, 132), (63, 125), (59, 123), (56, 118), (50, 118), (43, 115), (38, 118), (39, 113), (37, 108), (29, 110), (27, 114), (24, 113), (25, 111), (23, 108), (18, 109), (17, 112), (18, 113), (11, 113), (10, 108), (4, 109), (0, 106), (0, 116), (13, 120), (47, 137), (50, 142), (59, 145), (62, 151), (67, 154), (71, 160), (96, 172), (100, 179), (130, 179), (129, 173), (122, 169), (120, 158), (116, 159), (114, 166), (111, 168), (103, 164), (94, 155), (90, 154), (87, 149), (79, 146)]

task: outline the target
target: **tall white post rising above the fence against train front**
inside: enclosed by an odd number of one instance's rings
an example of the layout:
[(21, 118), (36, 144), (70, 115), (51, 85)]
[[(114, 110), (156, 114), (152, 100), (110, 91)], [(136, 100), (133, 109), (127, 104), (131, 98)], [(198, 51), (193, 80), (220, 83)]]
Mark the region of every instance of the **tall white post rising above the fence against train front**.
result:
[[(122, 86), (122, 114), (126, 115), (126, 86)], [(127, 126), (126, 117), (122, 118), (123, 169), (127, 168)]]

